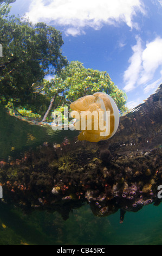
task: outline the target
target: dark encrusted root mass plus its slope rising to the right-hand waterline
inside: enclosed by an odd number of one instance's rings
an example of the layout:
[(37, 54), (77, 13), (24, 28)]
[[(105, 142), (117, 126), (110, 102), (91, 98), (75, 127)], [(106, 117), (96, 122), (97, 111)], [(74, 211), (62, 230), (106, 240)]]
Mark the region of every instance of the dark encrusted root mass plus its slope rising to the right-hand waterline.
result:
[(120, 209), (120, 223), (127, 211), (160, 204), (161, 95), (162, 86), (121, 117), (118, 131), (108, 141), (66, 139), (57, 145), (50, 140), (18, 159), (1, 161), (1, 203), (25, 212), (58, 211), (66, 220), (70, 210), (87, 202), (96, 216)]

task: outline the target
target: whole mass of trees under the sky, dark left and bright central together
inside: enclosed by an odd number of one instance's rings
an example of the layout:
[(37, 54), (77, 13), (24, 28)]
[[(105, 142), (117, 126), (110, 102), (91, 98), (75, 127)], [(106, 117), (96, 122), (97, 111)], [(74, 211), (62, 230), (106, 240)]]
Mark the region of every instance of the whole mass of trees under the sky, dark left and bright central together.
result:
[[(122, 113), (126, 111), (126, 94), (114, 85), (106, 71), (86, 69), (78, 61), (68, 64), (61, 53), (61, 33), (42, 22), (33, 25), (8, 16), (12, 2), (15, 0), (0, 0), (1, 104), (23, 109), (22, 114), (27, 116), (36, 113), (43, 117), (46, 113), (47, 118), (54, 109), (79, 97), (105, 92)], [(48, 74), (54, 77), (51, 81), (44, 80)]]

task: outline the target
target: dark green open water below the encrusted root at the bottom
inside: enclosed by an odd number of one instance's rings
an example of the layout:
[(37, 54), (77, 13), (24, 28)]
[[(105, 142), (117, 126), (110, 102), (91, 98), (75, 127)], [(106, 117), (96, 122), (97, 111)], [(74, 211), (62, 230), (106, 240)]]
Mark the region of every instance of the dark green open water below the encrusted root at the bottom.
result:
[(162, 205), (148, 205), (139, 212), (127, 212), (120, 224), (119, 211), (96, 217), (88, 205), (73, 210), (66, 221), (56, 212), (22, 215), (20, 210), (5, 205), (0, 213), (0, 244), (162, 245), (161, 210)]

